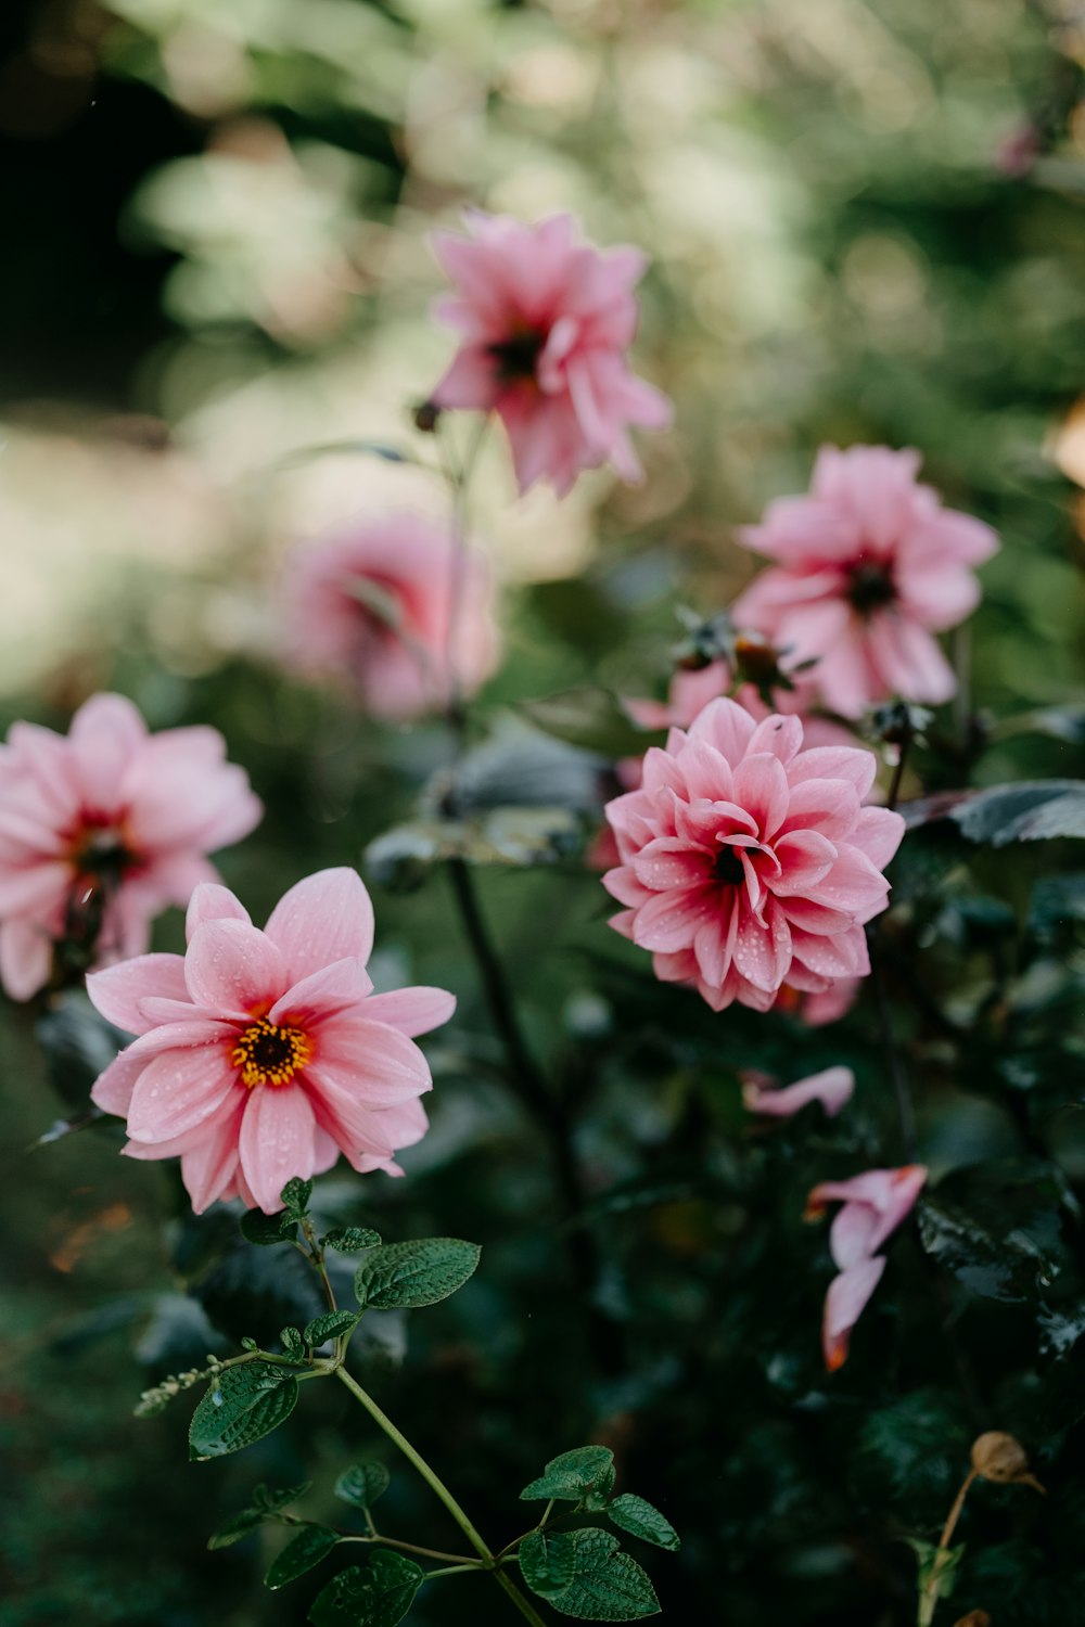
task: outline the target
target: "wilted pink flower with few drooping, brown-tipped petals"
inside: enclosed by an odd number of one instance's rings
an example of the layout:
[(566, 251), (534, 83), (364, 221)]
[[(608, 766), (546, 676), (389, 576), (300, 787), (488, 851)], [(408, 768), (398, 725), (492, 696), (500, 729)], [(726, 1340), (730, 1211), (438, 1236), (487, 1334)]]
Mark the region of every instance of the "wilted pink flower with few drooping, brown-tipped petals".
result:
[(927, 1180), (922, 1163), (901, 1170), (865, 1170), (851, 1181), (821, 1181), (807, 1201), (807, 1219), (841, 1202), (830, 1230), (830, 1251), (839, 1276), (825, 1295), (821, 1349), (830, 1373), (848, 1360), (851, 1329), (882, 1280), (885, 1256), (877, 1250), (911, 1212)]

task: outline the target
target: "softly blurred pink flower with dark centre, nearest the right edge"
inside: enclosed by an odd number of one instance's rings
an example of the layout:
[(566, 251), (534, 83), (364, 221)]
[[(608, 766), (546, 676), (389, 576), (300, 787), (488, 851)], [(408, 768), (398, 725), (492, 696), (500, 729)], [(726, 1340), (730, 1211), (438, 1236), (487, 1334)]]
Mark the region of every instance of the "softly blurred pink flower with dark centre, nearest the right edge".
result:
[(843, 718), (891, 695), (939, 703), (956, 691), (932, 633), (976, 608), (970, 566), (999, 543), (989, 526), (943, 509), (917, 470), (917, 452), (825, 446), (810, 495), (771, 503), (740, 534), (776, 565), (735, 600), (735, 618), (797, 661), (817, 656), (812, 680)]

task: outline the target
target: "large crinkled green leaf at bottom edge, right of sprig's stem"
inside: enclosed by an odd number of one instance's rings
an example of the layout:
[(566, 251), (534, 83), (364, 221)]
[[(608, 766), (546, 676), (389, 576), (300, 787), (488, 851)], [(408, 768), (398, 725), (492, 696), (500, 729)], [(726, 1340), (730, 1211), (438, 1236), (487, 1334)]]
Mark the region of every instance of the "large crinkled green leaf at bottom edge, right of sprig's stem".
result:
[[(547, 1541), (545, 1552), (525, 1538), (521, 1542), (521, 1554), (524, 1547), (527, 1547), (527, 1567), (521, 1560), (524, 1581), (563, 1616), (595, 1622), (631, 1622), (659, 1614), (659, 1599), (646, 1572), (621, 1552), (618, 1539), (610, 1531), (587, 1529), (555, 1536)], [(568, 1573), (569, 1560), (573, 1575), (558, 1585)], [(542, 1586), (537, 1588), (532, 1577), (538, 1577)]]

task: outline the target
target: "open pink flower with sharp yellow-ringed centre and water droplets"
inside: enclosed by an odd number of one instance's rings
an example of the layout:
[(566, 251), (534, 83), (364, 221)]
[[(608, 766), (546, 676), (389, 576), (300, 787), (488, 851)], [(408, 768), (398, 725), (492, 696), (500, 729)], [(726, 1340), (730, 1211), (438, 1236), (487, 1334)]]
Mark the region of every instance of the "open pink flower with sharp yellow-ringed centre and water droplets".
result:
[(426, 1132), (431, 1087), (413, 1036), (447, 1022), (444, 989), (374, 994), (373, 905), (355, 870), (319, 870), (260, 932), (224, 887), (197, 887), (184, 955), (140, 955), (88, 978), (109, 1022), (138, 1038), (94, 1084), (127, 1119), (135, 1158), (181, 1157), (197, 1214), (241, 1197), (281, 1209), (288, 1180), (340, 1152), (366, 1173)]

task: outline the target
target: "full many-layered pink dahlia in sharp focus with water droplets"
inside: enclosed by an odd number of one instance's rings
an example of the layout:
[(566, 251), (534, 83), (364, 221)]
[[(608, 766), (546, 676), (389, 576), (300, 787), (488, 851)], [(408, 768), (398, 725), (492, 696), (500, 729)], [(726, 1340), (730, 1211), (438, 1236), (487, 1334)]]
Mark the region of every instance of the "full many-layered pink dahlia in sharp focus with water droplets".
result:
[(621, 862), (604, 887), (626, 906), (610, 924), (714, 1010), (864, 976), (862, 927), (885, 908), (882, 869), (904, 831), (900, 814), (862, 805), (874, 770), (870, 752), (804, 750), (797, 718), (755, 724), (711, 701), (646, 753), (638, 791), (607, 804)]

